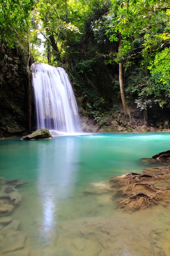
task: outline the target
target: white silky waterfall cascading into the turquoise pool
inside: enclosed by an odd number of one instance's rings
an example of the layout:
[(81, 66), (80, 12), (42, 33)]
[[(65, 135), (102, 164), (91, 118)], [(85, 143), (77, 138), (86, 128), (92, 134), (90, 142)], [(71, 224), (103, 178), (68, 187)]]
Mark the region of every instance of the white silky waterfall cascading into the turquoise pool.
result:
[(81, 132), (75, 95), (62, 67), (33, 63), (33, 90), (37, 129), (47, 128), (53, 136)]

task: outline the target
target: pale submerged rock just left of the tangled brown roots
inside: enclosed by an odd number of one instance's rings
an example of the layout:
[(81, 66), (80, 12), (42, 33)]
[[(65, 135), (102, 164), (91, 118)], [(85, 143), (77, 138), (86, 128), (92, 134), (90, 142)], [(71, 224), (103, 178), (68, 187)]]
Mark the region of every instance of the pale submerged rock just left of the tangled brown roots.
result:
[(84, 193), (91, 194), (104, 194), (115, 191), (115, 189), (110, 187), (110, 184), (107, 182), (99, 182), (99, 183), (90, 183), (84, 190)]

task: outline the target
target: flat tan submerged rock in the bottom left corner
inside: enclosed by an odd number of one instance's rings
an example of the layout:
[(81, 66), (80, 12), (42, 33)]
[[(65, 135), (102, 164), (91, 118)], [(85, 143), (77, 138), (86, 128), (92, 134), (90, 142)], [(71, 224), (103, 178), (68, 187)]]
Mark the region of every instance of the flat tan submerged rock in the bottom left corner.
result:
[(1, 250), (3, 253), (13, 252), (24, 248), (26, 236), (20, 231), (9, 232), (2, 241)]

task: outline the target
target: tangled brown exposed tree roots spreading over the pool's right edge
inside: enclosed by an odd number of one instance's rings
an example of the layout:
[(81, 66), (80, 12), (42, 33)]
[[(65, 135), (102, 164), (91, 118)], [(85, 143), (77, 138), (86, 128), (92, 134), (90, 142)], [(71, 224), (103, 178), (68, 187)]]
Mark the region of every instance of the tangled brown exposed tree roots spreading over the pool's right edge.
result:
[(128, 173), (110, 179), (111, 187), (118, 187), (116, 196), (128, 196), (117, 201), (118, 207), (136, 211), (152, 207), (161, 200), (170, 199), (170, 166), (147, 168), (143, 172)]

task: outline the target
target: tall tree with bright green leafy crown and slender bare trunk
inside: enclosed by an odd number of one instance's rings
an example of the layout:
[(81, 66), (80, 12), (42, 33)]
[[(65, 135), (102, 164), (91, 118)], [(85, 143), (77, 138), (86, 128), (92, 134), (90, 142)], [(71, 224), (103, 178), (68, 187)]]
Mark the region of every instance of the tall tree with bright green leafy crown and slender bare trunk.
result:
[[(169, 1), (159, 0), (111, 0), (107, 16), (110, 41), (119, 41), (118, 54), (110, 54), (112, 61), (119, 63), (119, 84), (124, 110), (129, 115), (122, 87), (122, 64), (127, 68), (139, 54), (141, 65), (147, 70), (148, 63), (161, 48), (163, 41), (159, 33), (162, 25), (169, 21)], [(159, 36), (158, 36), (159, 34)], [(138, 50), (134, 42), (139, 42)]]

